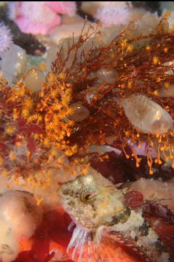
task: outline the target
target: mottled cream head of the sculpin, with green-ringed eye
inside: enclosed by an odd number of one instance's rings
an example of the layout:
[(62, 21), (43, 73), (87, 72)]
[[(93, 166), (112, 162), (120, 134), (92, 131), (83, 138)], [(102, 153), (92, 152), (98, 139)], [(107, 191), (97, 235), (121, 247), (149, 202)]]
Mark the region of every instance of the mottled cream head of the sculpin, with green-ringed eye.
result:
[(87, 230), (125, 221), (128, 212), (122, 190), (99, 185), (90, 175), (77, 176), (75, 180), (63, 183), (59, 197), (73, 221)]

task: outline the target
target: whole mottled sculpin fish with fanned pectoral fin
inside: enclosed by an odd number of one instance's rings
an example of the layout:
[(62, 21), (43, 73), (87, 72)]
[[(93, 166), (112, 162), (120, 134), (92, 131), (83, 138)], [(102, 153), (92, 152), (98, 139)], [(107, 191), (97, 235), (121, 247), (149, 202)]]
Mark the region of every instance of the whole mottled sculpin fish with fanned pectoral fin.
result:
[[(137, 252), (141, 261), (171, 261), (166, 246), (142, 216), (142, 207), (128, 208), (124, 195), (122, 189), (100, 185), (90, 175), (61, 185), (61, 205), (77, 225), (69, 244), (75, 247), (72, 259), (79, 262), (84, 255), (89, 262), (115, 261), (111, 250), (101, 249), (101, 243), (110, 238)], [(88, 246), (85, 254), (84, 246)]]

